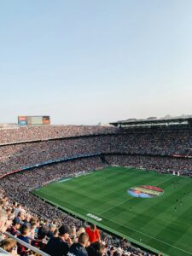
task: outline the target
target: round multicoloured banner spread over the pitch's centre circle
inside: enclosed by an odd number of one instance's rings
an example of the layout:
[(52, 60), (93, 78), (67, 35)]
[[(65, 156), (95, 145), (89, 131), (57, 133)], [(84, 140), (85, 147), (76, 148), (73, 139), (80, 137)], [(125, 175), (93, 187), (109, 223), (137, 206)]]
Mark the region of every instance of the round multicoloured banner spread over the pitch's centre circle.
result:
[(128, 189), (127, 193), (139, 198), (154, 198), (163, 195), (164, 190), (154, 186), (137, 186)]

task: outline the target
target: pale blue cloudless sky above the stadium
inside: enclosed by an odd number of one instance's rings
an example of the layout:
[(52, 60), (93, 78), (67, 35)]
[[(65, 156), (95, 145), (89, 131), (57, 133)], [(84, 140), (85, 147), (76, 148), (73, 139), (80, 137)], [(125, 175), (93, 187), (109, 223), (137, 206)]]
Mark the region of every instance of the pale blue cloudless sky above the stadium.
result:
[(192, 113), (191, 0), (1, 0), (0, 123)]

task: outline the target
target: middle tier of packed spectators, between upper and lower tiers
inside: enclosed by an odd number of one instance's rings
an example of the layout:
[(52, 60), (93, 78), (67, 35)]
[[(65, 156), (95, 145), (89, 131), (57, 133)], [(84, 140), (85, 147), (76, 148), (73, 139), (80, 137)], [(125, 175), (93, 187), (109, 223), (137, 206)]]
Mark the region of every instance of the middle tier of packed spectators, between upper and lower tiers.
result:
[(186, 131), (183, 133), (117, 133), (2, 145), (0, 146), (0, 176), (28, 166), (41, 165), (44, 162), (90, 154), (190, 156), (191, 135)]

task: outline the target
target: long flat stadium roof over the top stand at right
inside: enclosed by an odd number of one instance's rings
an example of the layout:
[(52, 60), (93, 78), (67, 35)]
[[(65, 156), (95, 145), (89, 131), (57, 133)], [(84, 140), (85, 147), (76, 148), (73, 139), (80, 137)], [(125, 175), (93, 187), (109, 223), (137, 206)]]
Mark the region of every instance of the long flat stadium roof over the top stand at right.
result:
[(192, 117), (190, 118), (170, 118), (170, 119), (127, 119), (110, 123), (117, 127), (146, 127), (146, 126), (161, 126), (161, 125), (189, 125), (192, 126)]

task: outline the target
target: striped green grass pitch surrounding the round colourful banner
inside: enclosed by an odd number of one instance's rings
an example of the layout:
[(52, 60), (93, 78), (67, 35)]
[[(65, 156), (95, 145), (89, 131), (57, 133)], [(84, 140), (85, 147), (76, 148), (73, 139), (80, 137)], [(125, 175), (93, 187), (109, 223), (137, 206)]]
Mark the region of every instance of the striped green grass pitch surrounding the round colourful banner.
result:
[[(164, 195), (150, 199), (128, 195), (127, 189), (137, 185), (158, 186), (164, 189)], [(108, 167), (51, 183), (33, 193), (163, 255), (192, 255), (192, 179), (189, 177)]]

